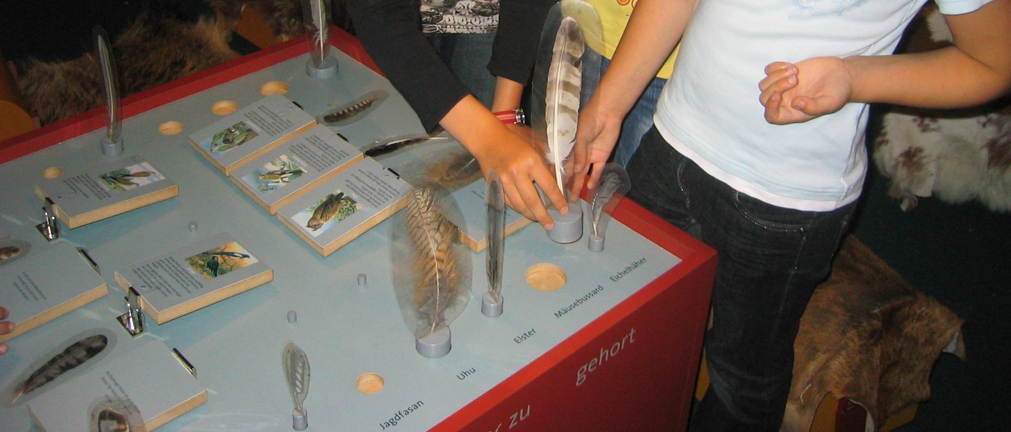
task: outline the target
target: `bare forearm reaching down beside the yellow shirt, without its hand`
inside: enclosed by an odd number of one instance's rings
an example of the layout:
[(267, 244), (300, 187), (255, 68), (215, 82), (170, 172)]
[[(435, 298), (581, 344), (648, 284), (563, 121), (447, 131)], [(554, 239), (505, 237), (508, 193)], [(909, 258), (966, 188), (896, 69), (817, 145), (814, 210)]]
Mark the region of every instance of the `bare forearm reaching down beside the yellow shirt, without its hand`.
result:
[(640, 0), (596, 94), (601, 107), (624, 116), (670, 57), (687, 26), (695, 0)]

